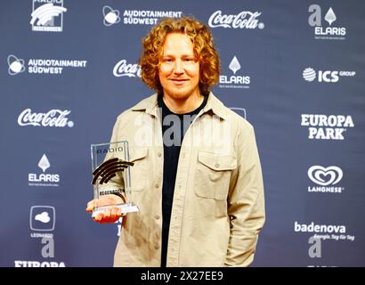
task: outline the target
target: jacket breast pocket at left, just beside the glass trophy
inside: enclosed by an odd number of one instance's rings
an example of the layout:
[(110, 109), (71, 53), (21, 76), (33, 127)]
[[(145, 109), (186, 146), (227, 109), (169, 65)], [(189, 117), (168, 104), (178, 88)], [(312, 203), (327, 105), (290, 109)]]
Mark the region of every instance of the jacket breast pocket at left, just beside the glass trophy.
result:
[(148, 176), (148, 152), (149, 149), (145, 147), (130, 147), (129, 161), (134, 163), (130, 167), (130, 181), (132, 191), (142, 191), (146, 188)]

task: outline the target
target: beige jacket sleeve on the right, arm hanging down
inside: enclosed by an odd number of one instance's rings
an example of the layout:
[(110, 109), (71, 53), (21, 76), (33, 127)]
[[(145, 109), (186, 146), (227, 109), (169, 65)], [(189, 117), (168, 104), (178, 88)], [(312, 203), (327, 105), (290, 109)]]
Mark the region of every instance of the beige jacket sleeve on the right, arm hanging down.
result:
[(263, 175), (253, 126), (241, 124), (236, 143), (238, 164), (228, 196), (231, 233), (225, 266), (248, 266), (265, 220)]

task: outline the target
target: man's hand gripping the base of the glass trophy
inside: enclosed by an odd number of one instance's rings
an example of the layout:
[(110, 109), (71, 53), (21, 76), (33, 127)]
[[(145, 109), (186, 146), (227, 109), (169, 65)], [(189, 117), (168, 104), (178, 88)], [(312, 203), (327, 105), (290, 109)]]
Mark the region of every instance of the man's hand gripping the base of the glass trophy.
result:
[[(125, 201), (118, 197), (117, 195), (104, 195), (101, 196), (100, 199), (93, 199), (87, 203), (86, 212), (93, 212), (93, 208), (107, 206), (107, 205), (115, 205), (119, 203), (124, 203)], [(118, 207), (110, 207), (106, 209), (103, 213), (95, 216), (94, 221), (100, 224), (105, 223), (115, 223), (118, 221), (119, 217), (125, 216), (122, 215), (121, 209)]]

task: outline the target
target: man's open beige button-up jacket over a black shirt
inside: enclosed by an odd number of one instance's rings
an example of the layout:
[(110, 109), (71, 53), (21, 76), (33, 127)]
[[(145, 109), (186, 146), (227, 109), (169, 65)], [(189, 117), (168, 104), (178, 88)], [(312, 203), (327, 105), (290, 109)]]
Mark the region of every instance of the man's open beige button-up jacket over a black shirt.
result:
[[(129, 142), (130, 199), (140, 208), (124, 218), (115, 266), (160, 266), (164, 148), (157, 98), (120, 114), (113, 129), (111, 142)], [(109, 187), (123, 188), (118, 177)], [(211, 93), (183, 138), (166, 265), (250, 265), (264, 219), (254, 128)]]

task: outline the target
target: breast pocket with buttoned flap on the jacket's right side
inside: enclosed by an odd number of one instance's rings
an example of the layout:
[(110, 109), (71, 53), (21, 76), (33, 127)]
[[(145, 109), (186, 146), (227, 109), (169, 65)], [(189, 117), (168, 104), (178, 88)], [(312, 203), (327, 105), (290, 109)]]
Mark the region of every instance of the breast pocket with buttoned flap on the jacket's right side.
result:
[(208, 151), (199, 151), (194, 177), (195, 194), (202, 198), (227, 199), (231, 172), (237, 159)]

